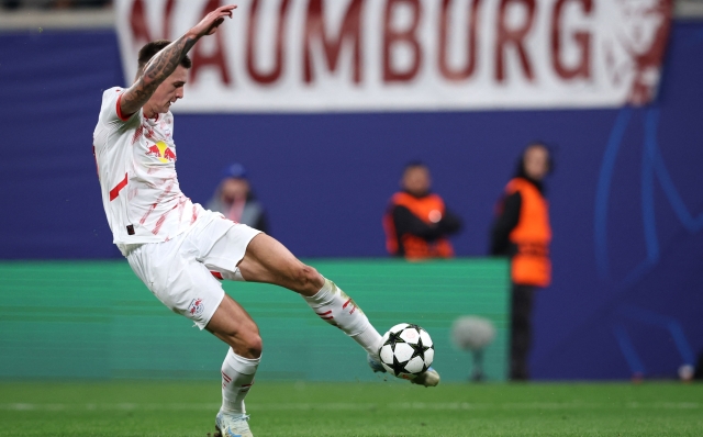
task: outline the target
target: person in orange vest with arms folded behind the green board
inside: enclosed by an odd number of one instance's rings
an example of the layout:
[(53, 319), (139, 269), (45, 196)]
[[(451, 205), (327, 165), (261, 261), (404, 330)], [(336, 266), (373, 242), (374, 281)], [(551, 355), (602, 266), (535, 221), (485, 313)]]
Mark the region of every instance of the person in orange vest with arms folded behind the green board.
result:
[(402, 191), (393, 194), (383, 216), (389, 254), (408, 259), (450, 258), (447, 237), (461, 228), (461, 220), (449, 212), (442, 198), (429, 191), (429, 169), (423, 163), (405, 166)]

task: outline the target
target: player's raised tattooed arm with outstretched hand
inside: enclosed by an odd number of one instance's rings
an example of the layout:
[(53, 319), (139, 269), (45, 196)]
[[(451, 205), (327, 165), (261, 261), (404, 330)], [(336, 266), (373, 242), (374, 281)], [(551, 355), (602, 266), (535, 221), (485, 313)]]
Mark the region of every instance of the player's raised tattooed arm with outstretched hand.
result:
[(181, 59), (202, 36), (212, 35), (217, 26), (224, 22), (224, 18), (232, 18), (232, 11), (236, 5), (220, 7), (210, 12), (183, 36), (174, 41), (163, 51), (154, 55), (120, 99), (120, 111), (123, 116), (136, 113), (150, 99), (158, 86), (176, 70)]

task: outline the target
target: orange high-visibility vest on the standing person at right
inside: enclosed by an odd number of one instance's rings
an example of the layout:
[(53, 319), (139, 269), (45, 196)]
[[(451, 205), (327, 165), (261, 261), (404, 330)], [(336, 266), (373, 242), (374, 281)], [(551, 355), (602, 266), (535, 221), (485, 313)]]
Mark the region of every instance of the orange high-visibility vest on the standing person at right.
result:
[(515, 192), (520, 192), (522, 205), (517, 226), (510, 233), (510, 240), (517, 246), (511, 266), (513, 282), (547, 287), (551, 282), (549, 204), (539, 190), (523, 178), (515, 178), (505, 187), (507, 195)]

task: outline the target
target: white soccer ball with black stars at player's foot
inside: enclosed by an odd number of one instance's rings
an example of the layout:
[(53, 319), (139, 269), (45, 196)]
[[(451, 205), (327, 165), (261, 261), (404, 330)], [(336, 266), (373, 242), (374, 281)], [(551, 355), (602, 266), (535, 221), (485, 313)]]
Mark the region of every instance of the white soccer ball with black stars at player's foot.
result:
[(414, 379), (432, 365), (435, 347), (425, 329), (401, 323), (383, 335), (378, 355), (387, 372), (402, 379)]

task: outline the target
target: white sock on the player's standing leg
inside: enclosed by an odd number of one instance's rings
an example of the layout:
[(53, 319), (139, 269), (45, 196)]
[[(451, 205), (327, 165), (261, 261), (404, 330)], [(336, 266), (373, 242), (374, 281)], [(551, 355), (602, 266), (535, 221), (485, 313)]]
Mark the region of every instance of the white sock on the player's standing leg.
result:
[(254, 383), (254, 373), (260, 360), (260, 358), (239, 357), (230, 348), (222, 362), (222, 412), (246, 413), (244, 397)]

